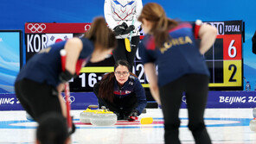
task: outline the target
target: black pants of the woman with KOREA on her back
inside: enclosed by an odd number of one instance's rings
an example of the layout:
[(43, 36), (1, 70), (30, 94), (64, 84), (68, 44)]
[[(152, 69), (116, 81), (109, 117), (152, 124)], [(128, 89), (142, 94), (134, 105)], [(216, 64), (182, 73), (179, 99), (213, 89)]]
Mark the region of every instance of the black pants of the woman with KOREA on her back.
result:
[(160, 87), (159, 91), (164, 118), (165, 143), (181, 143), (178, 138), (180, 127), (178, 115), (182, 103), (182, 92), (185, 91), (189, 111), (189, 130), (192, 132), (195, 143), (210, 144), (211, 140), (203, 120), (208, 98), (208, 76), (188, 74)]

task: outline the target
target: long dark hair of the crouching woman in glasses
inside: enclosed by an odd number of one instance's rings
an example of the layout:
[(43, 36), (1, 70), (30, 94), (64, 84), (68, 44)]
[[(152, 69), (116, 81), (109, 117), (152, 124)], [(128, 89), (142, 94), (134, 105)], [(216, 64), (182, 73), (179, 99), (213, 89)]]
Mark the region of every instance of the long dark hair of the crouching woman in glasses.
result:
[[(114, 71), (118, 66), (126, 66), (128, 70), (130, 68), (128, 61), (126, 61), (125, 59), (119, 59), (118, 61), (116, 61), (116, 64), (114, 66)], [(137, 76), (132, 72), (130, 72), (130, 74), (137, 78)], [(99, 97), (104, 98), (112, 103), (114, 98), (114, 93), (113, 93), (114, 82), (115, 82), (114, 72), (105, 74), (99, 82)]]

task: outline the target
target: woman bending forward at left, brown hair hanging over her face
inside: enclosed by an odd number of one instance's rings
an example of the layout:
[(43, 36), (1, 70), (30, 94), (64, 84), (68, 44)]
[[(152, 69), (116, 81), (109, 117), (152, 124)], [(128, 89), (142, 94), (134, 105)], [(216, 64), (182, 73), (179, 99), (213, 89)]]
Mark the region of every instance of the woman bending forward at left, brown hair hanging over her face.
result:
[[(66, 117), (66, 105), (61, 97), (65, 82), (78, 75), (86, 61), (105, 59), (115, 46), (115, 35), (107, 28), (105, 19), (95, 18), (84, 37), (58, 42), (29, 59), (16, 78), (16, 97), (35, 121), (52, 111)], [(67, 52), (65, 72), (61, 71), (63, 48)]]

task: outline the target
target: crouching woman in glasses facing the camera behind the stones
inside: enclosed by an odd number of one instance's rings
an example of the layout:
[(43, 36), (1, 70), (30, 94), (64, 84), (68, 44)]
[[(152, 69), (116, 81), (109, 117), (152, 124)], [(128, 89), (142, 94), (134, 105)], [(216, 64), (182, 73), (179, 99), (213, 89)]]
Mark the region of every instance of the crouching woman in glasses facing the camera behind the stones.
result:
[(118, 60), (114, 72), (104, 75), (93, 88), (99, 107), (106, 106), (118, 120), (135, 120), (132, 118), (139, 116), (147, 104), (144, 88), (129, 68), (125, 59)]

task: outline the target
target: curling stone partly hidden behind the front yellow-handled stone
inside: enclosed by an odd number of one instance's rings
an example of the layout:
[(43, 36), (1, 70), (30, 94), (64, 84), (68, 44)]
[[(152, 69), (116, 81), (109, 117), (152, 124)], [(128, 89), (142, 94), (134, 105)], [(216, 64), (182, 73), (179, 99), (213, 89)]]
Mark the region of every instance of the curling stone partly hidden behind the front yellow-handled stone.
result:
[(89, 105), (86, 110), (80, 113), (80, 122), (82, 123), (91, 123), (90, 119), (93, 116), (94, 111), (92, 108), (98, 108), (98, 105)]

